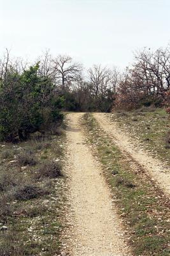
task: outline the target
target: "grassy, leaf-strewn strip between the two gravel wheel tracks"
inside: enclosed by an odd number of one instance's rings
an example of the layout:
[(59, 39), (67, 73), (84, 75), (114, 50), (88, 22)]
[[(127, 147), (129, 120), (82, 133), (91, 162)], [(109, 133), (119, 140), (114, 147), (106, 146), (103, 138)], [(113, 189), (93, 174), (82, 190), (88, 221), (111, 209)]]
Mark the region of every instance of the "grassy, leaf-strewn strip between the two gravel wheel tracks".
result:
[(90, 114), (82, 120), (87, 143), (93, 145), (110, 183), (118, 213), (124, 221), (134, 255), (167, 256), (169, 201), (152, 180), (125, 158)]

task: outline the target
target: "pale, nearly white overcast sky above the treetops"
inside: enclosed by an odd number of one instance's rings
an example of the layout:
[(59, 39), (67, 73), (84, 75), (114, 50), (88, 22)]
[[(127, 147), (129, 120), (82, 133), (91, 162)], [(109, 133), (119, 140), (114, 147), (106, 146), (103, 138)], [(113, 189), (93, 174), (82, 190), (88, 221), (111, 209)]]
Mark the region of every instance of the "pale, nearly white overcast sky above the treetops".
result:
[(0, 51), (36, 58), (45, 49), (85, 67), (126, 67), (133, 51), (170, 42), (170, 0), (0, 0)]

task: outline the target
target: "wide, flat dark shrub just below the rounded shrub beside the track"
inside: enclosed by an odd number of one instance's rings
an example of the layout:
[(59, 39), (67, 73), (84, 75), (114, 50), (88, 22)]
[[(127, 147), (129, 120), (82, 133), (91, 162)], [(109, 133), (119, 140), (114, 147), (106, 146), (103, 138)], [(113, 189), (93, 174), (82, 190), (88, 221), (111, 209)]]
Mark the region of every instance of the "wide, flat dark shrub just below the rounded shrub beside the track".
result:
[(15, 189), (13, 196), (17, 200), (29, 200), (48, 194), (49, 191), (34, 184), (25, 184)]

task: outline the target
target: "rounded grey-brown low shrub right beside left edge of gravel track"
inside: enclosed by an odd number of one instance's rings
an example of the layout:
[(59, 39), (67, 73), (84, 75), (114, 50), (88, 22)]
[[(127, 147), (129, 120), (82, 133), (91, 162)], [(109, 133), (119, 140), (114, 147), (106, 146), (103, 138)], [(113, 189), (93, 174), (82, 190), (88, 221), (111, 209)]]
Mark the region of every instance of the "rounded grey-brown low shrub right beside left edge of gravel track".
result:
[(40, 179), (41, 177), (50, 177), (50, 178), (58, 178), (62, 176), (61, 172), (61, 164), (55, 163), (53, 161), (45, 161), (39, 167), (38, 172), (36, 173), (36, 178)]

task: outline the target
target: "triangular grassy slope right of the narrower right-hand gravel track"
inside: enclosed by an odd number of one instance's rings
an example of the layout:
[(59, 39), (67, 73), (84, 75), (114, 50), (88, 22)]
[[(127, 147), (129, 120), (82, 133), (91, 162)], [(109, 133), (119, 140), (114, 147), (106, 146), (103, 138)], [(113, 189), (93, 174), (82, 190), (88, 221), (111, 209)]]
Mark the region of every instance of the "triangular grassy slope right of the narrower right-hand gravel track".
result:
[(138, 140), (141, 147), (170, 164), (170, 122), (164, 109), (142, 108), (108, 115), (117, 121), (122, 131)]

